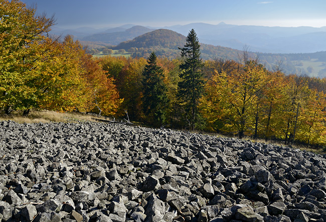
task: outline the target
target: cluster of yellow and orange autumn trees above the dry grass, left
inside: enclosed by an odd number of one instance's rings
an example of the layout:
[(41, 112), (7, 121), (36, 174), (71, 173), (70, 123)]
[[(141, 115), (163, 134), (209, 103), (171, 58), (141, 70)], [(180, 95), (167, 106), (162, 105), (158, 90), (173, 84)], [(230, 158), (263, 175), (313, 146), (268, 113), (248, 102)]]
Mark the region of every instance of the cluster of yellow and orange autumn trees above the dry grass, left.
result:
[(1, 0), (0, 107), (115, 114), (122, 102), (113, 80), (71, 36), (47, 37), (54, 24), (20, 1)]

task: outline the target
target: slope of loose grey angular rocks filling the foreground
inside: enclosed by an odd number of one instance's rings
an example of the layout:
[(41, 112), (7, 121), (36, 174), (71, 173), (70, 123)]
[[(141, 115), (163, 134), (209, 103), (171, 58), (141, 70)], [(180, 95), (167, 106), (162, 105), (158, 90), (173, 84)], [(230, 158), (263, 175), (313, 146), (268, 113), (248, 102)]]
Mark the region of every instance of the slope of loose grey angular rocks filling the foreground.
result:
[(326, 160), (105, 123), (0, 122), (3, 221), (323, 221)]

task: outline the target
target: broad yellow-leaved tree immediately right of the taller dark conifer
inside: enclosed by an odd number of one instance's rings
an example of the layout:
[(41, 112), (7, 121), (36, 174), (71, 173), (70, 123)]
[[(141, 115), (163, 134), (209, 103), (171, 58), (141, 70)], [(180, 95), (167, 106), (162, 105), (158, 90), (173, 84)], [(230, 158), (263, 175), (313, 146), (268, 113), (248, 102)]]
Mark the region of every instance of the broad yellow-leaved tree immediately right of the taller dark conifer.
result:
[(203, 115), (227, 133), (237, 131), (239, 138), (248, 128), (257, 131), (260, 93), (265, 81), (265, 68), (253, 60), (230, 73), (216, 70), (201, 99)]

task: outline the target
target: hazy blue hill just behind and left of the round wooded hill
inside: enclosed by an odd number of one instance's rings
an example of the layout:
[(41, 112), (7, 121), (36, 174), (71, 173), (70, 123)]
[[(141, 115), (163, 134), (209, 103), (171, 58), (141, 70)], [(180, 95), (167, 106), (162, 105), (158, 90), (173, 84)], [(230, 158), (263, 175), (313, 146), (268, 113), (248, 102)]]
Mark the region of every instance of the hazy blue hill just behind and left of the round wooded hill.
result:
[[(123, 27), (120, 27), (123, 28)], [(112, 31), (112, 30), (108, 30)], [(111, 45), (117, 45), (120, 42), (132, 40), (133, 38), (152, 31), (143, 26), (133, 26), (129, 29), (120, 32), (97, 33), (91, 36), (83, 37), (82, 41), (102, 42)]]

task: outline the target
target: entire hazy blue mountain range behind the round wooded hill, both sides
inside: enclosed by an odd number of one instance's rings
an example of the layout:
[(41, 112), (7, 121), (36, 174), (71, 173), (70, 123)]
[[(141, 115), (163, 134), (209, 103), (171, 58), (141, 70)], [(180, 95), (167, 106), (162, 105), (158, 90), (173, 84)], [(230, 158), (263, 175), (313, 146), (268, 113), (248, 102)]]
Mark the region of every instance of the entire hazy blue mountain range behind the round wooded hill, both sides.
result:
[[(126, 24), (115, 28), (93, 29), (82, 27), (64, 30), (54, 28), (51, 33), (65, 36), (74, 35), (82, 41), (101, 42), (118, 45), (120, 42), (156, 29), (169, 29), (187, 36), (191, 29), (195, 29), (199, 41), (214, 46), (224, 46), (242, 50), (246, 45), (250, 51), (260, 53), (313, 53), (326, 51), (326, 26), (313, 27), (267, 27), (267, 26), (238, 26), (220, 23), (211, 25), (206, 23), (192, 23), (168, 27), (142, 27)], [(137, 32), (130, 33), (130, 29)]]

